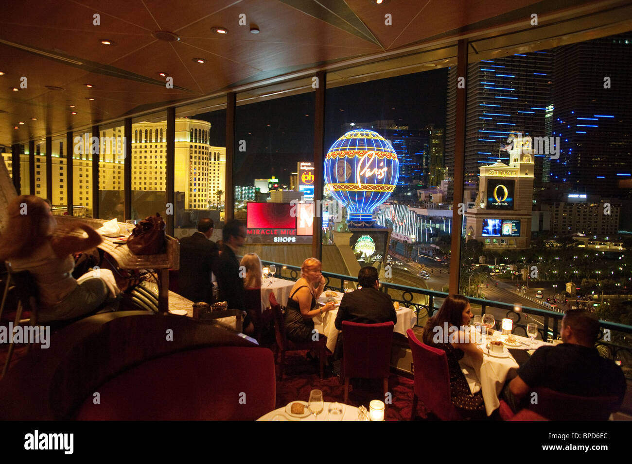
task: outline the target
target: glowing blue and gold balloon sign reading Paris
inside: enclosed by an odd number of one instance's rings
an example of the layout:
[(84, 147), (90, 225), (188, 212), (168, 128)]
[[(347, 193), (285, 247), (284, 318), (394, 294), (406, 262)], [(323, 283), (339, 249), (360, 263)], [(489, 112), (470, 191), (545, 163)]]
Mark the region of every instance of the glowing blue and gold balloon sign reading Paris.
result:
[(329, 148), (324, 175), (331, 195), (347, 208), (349, 227), (372, 227), (373, 210), (395, 189), (399, 161), (380, 134), (355, 129)]

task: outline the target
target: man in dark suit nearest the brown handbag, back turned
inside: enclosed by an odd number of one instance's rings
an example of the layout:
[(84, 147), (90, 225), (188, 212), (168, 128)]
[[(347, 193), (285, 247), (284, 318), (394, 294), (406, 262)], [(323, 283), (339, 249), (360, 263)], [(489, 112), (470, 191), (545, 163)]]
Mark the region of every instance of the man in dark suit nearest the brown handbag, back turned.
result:
[(193, 302), (213, 302), (211, 272), (217, 261), (217, 246), (210, 240), (213, 235), (213, 220), (201, 219), (197, 232), (180, 239), (180, 270), (178, 291)]

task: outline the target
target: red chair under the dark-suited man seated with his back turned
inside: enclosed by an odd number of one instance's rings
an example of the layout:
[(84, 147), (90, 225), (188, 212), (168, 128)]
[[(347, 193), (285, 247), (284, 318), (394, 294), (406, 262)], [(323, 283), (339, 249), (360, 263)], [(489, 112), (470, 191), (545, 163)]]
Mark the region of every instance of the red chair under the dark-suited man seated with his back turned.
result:
[(384, 396), (391, 374), (392, 322), (359, 324), (343, 321), (344, 403), (349, 399), (349, 379), (382, 379)]

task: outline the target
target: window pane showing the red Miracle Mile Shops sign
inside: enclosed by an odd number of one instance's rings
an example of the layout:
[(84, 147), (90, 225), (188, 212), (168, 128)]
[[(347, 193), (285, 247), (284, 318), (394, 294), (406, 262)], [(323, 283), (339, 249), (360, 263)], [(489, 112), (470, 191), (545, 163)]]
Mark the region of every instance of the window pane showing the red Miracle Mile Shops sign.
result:
[[(274, 89), (240, 94), (238, 105), (268, 93)], [(312, 256), (313, 211), (300, 203), (315, 195), (314, 101), (308, 92), (237, 107), (234, 216), (246, 223), (246, 253), (289, 265)]]

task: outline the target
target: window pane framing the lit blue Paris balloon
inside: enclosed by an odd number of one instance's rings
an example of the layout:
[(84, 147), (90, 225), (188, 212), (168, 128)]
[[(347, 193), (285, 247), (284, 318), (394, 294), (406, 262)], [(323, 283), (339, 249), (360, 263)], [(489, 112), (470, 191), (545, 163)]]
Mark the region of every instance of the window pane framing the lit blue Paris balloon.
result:
[(446, 79), (437, 69), (327, 90), (325, 199), (337, 198), (341, 214), (323, 221), (325, 271), (357, 277), (372, 265), (382, 282), (447, 289)]

